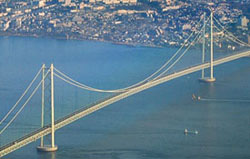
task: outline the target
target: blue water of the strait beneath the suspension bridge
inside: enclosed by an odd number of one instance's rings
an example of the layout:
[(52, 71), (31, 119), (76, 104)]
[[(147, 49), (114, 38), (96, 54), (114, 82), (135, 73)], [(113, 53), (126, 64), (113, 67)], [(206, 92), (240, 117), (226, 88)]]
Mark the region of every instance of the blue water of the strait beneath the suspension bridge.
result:
[[(15, 104), (43, 63), (47, 67), (53, 63), (90, 86), (117, 89), (148, 77), (175, 51), (103, 42), (0, 37), (0, 118)], [(198, 48), (191, 52), (184, 56), (189, 60), (181, 60), (172, 71), (197, 64), (201, 53)], [(56, 131), (57, 152), (37, 152), (38, 140), (4, 158), (250, 158), (250, 58), (215, 67), (215, 83), (200, 83), (200, 76), (196, 72), (158, 85)], [(82, 91), (59, 79), (55, 82), (56, 118), (110, 95)], [(203, 100), (192, 100), (193, 94)], [(27, 130), (25, 121), (39, 125), (39, 99), (38, 93), (13, 124)], [(199, 133), (185, 135), (184, 129)], [(14, 127), (6, 131), (21, 133)], [(11, 138), (11, 133), (7, 134), (0, 136), (1, 145)]]

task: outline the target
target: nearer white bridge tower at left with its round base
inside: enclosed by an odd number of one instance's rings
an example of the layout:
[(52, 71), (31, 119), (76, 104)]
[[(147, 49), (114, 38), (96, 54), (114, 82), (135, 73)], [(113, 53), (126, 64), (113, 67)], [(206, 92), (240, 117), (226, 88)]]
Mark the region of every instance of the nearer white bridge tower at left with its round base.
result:
[[(44, 83), (45, 83), (45, 65), (42, 67), (42, 114), (41, 114), (41, 126), (44, 126)], [(41, 137), (41, 144), (37, 147), (38, 151), (53, 152), (58, 149), (55, 145), (55, 119), (54, 119), (54, 65), (50, 66), (50, 80), (51, 80), (51, 145), (44, 145), (43, 137)]]

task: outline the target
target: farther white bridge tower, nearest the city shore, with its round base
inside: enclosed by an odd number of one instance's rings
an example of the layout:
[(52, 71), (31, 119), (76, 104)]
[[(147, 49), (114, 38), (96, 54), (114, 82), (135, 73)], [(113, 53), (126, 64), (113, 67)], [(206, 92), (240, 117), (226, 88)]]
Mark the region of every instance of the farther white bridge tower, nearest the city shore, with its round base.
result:
[[(205, 15), (204, 15), (205, 16)], [(215, 82), (214, 78), (214, 46), (213, 46), (213, 11), (211, 11), (211, 16), (210, 16), (210, 21), (211, 21), (211, 30), (210, 30), (210, 77), (204, 77), (204, 69), (202, 69), (202, 75), (200, 81), (203, 82)], [(205, 62), (205, 26), (206, 26), (206, 20), (204, 17), (204, 26), (203, 26), (203, 47), (202, 47), (202, 63)]]

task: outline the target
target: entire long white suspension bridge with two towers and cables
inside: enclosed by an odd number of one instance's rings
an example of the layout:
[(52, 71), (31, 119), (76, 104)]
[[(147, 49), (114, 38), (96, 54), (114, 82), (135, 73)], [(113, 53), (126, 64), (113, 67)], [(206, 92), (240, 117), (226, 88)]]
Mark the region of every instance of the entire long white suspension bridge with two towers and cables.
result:
[[(202, 23), (203, 20), (203, 23)], [(210, 22), (210, 23), (209, 23)], [(218, 26), (214, 25), (214, 22), (217, 23)], [(209, 30), (209, 37), (207, 38), (210, 42), (210, 60), (205, 61), (205, 44), (206, 44), (206, 29), (207, 26), (210, 26)], [(157, 86), (159, 84), (162, 84), (164, 82), (179, 78), (181, 76), (185, 76), (187, 74), (191, 74), (197, 71), (202, 71), (202, 77), (201, 80), (205, 82), (214, 82), (214, 74), (213, 69), (214, 66), (230, 62), (233, 60), (237, 60), (242, 57), (250, 56), (250, 49), (249, 44), (243, 42), (242, 40), (235, 37), (233, 34), (231, 34), (229, 31), (223, 27), (223, 25), (213, 16), (213, 13), (209, 17), (206, 18), (205, 15), (202, 16), (201, 20), (197, 23), (196, 28), (199, 28), (198, 31), (193, 31), (190, 36), (187, 38), (187, 40), (184, 42), (184, 44), (176, 51), (173, 56), (167, 60), (164, 65), (162, 65), (157, 71), (155, 71), (153, 74), (151, 74), (149, 77), (145, 78), (144, 80), (133, 84), (126, 88), (121, 89), (115, 89), (115, 90), (103, 90), (98, 88), (90, 87), (86, 84), (82, 84), (76, 80), (73, 80), (68, 75), (60, 71), (59, 69), (55, 68), (53, 64), (51, 64), (50, 68), (46, 68), (45, 65), (41, 67), (41, 69), (36, 74), (35, 78), (32, 80), (30, 85), (27, 87), (27, 89), (24, 91), (22, 96), (19, 98), (19, 100), (16, 102), (16, 104), (10, 109), (10, 111), (2, 118), (0, 121), (0, 135), (4, 133), (6, 130), (8, 130), (8, 127), (15, 121), (15, 119), (21, 114), (22, 110), (26, 107), (27, 103), (29, 103), (30, 99), (33, 97), (33, 95), (37, 92), (37, 90), (41, 87), (42, 90), (42, 111), (41, 111), (41, 126), (40, 128), (36, 129), (35, 131), (29, 132), (25, 135), (22, 135), (16, 139), (13, 139), (12, 141), (4, 144), (2, 147), (0, 147), (0, 157), (3, 157), (19, 148), (22, 148), (23, 146), (34, 142), (38, 139), (41, 139), (40, 146), (37, 147), (40, 151), (56, 151), (57, 146), (55, 145), (55, 131), (78, 120), (81, 119), (93, 112), (96, 112), (104, 107), (109, 106), (112, 103), (115, 103), (117, 101), (120, 101), (124, 98), (127, 98), (133, 94), (139, 93), (141, 91), (144, 91), (146, 89), (149, 89), (151, 87)], [(223, 32), (223, 36), (229, 40), (231, 40), (234, 43), (237, 43), (239, 47), (244, 47), (243, 51), (237, 51), (235, 53), (232, 53), (230, 55), (226, 55), (223, 57), (219, 57), (217, 59), (214, 59), (214, 29), (217, 29), (218, 31)], [(191, 42), (190, 42), (191, 41)], [(169, 73), (169, 70), (173, 68), (176, 63), (178, 63), (183, 56), (188, 52), (190, 47), (194, 46), (196, 43), (202, 44), (202, 59), (201, 63), (196, 65), (191, 65), (188, 67), (185, 67), (183, 69), (174, 71)], [(210, 69), (210, 76), (205, 77), (205, 69)], [(27, 98), (27, 100), (24, 102), (24, 104), (15, 112), (15, 114), (10, 117), (10, 114), (14, 112), (14, 110), (17, 108), (20, 101), (23, 99), (23, 97), (27, 94), (28, 90), (30, 90), (31, 86), (34, 84), (34, 81), (37, 80), (38, 76), (42, 74), (42, 79), (38, 84), (36, 85), (35, 89), (32, 91), (31, 95)], [(78, 87), (80, 89), (88, 90), (88, 91), (94, 91), (94, 92), (102, 92), (102, 93), (114, 93), (108, 98), (105, 98), (100, 101), (96, 101), (92, 104), (90, 104), (87, 107), (82, 107), (78, 110), (75, 110), (72, 113), (69, 113), (66, 116), (61, 117), (60, 119), (55, 120), (54, 116), (54, 77), (70, 84), (75, 87)], [(46, 79), (50, 80), (50, 123), (45, 124), (44, 122), (44, 107), (45, 107), (45, 82)], [(11, 118), (7, 121), (8, 118)], [(44, 144), (43, 137), (46, 135), (51, 134), (51, 143), (50, 145)]]

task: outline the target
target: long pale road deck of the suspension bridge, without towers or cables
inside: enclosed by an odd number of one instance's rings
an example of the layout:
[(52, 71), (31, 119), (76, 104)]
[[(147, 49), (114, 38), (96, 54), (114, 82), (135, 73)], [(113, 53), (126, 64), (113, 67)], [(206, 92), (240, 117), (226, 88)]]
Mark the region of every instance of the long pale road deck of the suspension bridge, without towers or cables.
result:
[[(246, 57), (246, 56), (250, 56), (250, 50), (215, 60), (214, 66), (220, 65), (220, 64), (223, 64), (223, 63), (226, 63), (229, 61), (233, 61), (233, 60), (236, 60), (236, 59), (239, 59), (242, 57)], [(132, 88), (126, 92), (116, 94), (112, 97), (109, 97), (109, 98), (104, 99), (102, 101), (99, 101), (97, 103), (93, 103), (92, 105), (90, 105), (88, 107), (84, 107), (82, 109), (79, 109), (76, 112), (69, 114), (69, 115), (55, 121), (55, 129), (56, 130), (60, 129), (60, 128), (66, 126), (66, 125), (68, 125), (68, 124), (70, 124), (78, 119), (81, 119), (82, 117), (84, 117), (88, 114), (91, 114), (99, 109), (102, 109), (102, 108), (104, 108), (112, 103), (115, 103), (121, 99), (124, 99), (128, 96), (131, 96), (133, 94), (136, 94), (136, 93), (141, 92), (143, 90), (146, 90), (148, 88), (154, 87), (154, 86), (159, 85), (161, 83), (170, 81), (172, 79), (175, 79), (175, 78), (178, 78), (178, 77), (181, 77), (181, 76), (184, 76), (184, 75), (187, 75), (187, 74), (190, 74), (190, 73), (193, 73), (193, 72), (196, 72), (196, 71), (199, 71), (201, 69), (208, 68), (208, 67), (210, 67), (210, 63), (204, 63), (204, 64), (192, 66), (192, 67), (186, 68), (184, 70), (180, 70), (178, 72), (166, 75), (166, 76), (161, 77), (159, 79), (144, 83), (144, 84), (137, 86), (135, 88)], [(37, 139), (41, 138), (42, 136), (48, 135), (50, 133), (51, 133), (51, 125), (46, 125), (43, 128), (40, 128), (40, 129), (30, 133), (30, 134), (27, 134), (24, 137), (21, 137), (15, 141), (3, 146), (3, 147), (0, 147), (0, 157), (3, 157), (5, 155), (11, 153), (12, 151), (15, 151), (15, 150), (33, 142), (33, 141), (36, 141)]]

